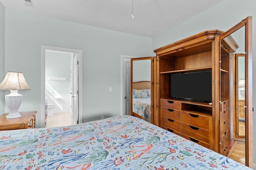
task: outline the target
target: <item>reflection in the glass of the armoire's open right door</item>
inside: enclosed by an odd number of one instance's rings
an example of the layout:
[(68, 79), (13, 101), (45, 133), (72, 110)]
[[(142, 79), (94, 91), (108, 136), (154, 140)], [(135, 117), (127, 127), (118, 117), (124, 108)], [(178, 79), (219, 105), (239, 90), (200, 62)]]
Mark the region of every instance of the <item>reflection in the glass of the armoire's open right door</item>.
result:
[[(236, 141), (236, 145), (230, 158), (245, 164), (245, 27), (241, 27), (228, 37), (221, 40), (221, 53), (223, 55), (223, 51), (225, 51), (225, 43), (234, 40), (238, 44), (238, 48), (234, 49), (234, 51), (230, 50), (231, 54), (230, 59), (234, 58), (233, 64), (230, 65), (230, 78), (234, 79), (234, 86), (231, 84), (230, 91), (234, 90), (234, 92), (230, 92), (233, 94), (230, 96), (230, 102), (234, 103), (234, 106), (230, 104), (230, 132), (231, 138)], [(232, 63), (232, 62), (231, 62)], [(234, 66), (233, 66), (234, 65)], [(225, 66), (222, 66), (225, 67)], [(234, 67), (234, 69), (232, 69)], [(222, 73), (223, 74), (223, 73)], [(230, 81), (232, 81), (230, 79)], [(223, 97), (223, 96), (221, 96)]]

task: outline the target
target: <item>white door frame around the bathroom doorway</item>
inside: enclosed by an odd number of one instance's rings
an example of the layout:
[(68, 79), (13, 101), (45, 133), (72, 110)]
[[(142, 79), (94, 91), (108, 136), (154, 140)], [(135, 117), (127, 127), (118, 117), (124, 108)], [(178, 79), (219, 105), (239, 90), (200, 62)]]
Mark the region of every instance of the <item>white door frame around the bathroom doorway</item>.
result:
[(69, 53), (77, 53), (78, 61), (79, 61), (79, 69), (78, 69), (78, 88), (79, 88), (79, 96), (78, 96), (78, 123), (82, 123), (82, 50), (78, 49), (68, 49), (62, 47), (53, 47), (41, 45), (41, 115), (40, 115), (40, 127), (45, 127), (45, 51), (64, 51)]

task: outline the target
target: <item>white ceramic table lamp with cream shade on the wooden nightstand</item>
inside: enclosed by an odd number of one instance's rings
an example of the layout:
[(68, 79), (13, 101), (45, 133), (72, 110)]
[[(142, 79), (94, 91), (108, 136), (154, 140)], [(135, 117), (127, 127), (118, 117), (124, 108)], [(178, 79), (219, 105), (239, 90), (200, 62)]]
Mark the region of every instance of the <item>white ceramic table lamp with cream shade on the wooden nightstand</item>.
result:
[(21, 117), (18, 109), (22, 102), (22, 94), (18, 90), (30, 90), (22, 72), (7, 72), (4, 80), (0, 84), (1, 90), (10, 90), (10, 94), (5, 96), (5, 102), (10, 109), (6, 118)]

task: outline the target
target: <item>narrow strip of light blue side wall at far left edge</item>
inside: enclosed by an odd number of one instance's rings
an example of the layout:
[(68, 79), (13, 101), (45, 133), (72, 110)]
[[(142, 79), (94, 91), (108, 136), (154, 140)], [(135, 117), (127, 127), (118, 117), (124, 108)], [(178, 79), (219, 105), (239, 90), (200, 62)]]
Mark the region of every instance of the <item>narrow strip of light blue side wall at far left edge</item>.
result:
[[(2, 80), (4, 80), (4, 76), (6, 74), (4, 68), (4, 63), (5, 63), (5, 58), (4, 58), (4, 51), (5, 51), (5, 46), (4, 46), (4, 6), (0, 3), (0, 83)], [(0, 115), (5, 113), (5, 99), (4, 99), (4, 91), (0, 90)]]

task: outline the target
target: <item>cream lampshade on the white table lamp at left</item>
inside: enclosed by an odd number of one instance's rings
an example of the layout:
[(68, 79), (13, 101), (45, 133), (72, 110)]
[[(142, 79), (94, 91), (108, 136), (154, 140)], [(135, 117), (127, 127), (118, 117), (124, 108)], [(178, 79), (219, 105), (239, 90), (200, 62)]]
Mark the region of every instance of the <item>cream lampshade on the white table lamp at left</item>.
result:
[(31, 90), (22, 72), (7, 72), (0, 84), (2, 90)]

